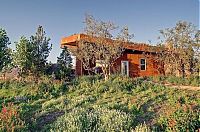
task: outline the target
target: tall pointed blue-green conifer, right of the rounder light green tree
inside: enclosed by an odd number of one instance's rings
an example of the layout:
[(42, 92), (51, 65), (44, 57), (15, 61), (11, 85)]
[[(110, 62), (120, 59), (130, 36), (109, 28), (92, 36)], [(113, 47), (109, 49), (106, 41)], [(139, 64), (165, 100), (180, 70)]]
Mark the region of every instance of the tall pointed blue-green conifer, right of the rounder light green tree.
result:
[(44, 74), (47, 58), (52, 49), (50, 38), (47, 38), (42, 26), (39, 26), (35, 35), (31, 36), (30, 44), (32, 45), (32, 71), (33, 75), (38, 78)]

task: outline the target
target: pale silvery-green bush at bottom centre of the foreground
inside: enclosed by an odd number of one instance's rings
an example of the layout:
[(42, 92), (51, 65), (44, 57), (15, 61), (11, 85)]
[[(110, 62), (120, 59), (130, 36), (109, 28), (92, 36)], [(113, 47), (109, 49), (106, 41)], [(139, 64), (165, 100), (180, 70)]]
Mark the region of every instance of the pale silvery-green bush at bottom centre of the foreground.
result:
[(130, 115), (105, 108), (76, 108), (50, 125), (51, 131), (128, 131)]

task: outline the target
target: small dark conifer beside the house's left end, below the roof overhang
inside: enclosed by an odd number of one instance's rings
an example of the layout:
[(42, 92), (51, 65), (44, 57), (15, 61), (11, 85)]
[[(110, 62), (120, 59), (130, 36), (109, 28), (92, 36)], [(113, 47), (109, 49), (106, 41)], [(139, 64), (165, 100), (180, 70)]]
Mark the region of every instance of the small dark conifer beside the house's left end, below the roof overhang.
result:
[(72, 73), (71, 71), (72, 58), (67, 47), (64, 47), (62, 49), (62, 52), (60, 53), (60, 56), (57, 57), (57, 64), (58, 64), (57, 76), (60, 79), (66, 79), (67, 77), (70, 77)]

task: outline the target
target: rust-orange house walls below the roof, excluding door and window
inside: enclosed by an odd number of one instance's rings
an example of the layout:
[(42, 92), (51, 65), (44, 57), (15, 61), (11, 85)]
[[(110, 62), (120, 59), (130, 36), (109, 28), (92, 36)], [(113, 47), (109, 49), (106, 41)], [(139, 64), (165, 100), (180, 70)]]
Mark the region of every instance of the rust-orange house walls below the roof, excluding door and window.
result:
[[(146, 59), (146, 70), (140, 69), (140, 59)], [(146, 57), (144, 54), (139, 52), (135, 53), (124, 53), (121, 57), (119, 57), (114, 66), (111, 68), (112, 73), (121, 73), (121, 61), (129, 62), (129, 76), (130, 77), (140, 77), (140, 76), (156, 76), (159, 75), (158, 65), (154, 61), (154, 57)], [(87, 71), (84, 70), (82, 63), (80, 60), (76, 60), (75, 74), (77, 76), (88, 74)]]

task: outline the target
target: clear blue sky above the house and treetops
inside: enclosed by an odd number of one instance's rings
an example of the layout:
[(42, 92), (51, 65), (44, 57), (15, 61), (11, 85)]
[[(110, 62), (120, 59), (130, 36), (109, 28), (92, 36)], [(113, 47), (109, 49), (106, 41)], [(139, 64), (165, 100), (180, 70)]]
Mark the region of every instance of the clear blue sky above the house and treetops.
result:
[(0, 0), (0, 28), (6, 30), (11, 48), (21, 36), (34, 35), (39, 25), (51, 38), (48, 61), (56, 62), (60, 40), (84, 30), (85, 14), (98, 20), (128, 26), (134, 42), (156, 43), (159, 30), (182, 20), (197, 28), (200, 0)]

